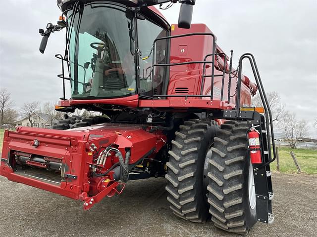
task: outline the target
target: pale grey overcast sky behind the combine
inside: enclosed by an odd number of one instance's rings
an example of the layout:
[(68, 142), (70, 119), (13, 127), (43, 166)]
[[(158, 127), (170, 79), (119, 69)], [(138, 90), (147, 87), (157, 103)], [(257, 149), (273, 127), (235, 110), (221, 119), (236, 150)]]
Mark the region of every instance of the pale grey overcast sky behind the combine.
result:
[[(207, 24), (225, 52), (234, 49), (234, 65), (242, 53), (253, 53), (265, 90), (277, 91), (298, 118), (310, 123), (317, 118), (317, 0), (196, 2), (193, 23)], [(162, 13), (172, 24), (178, 10), (174, 4)], [(17, 107), (57, 101), (62, 81), (56, 78), (61, 69), (54, 55), (63, 54), (64, 30), (51, 35), (44, 55), (38, 50), (38, 29), (55, 24), (60, 15), (56, 1), (5, 0), (0, 14), (0, 87), (11, 92)], [(244, 74), (252, 79), (247, 68)]]

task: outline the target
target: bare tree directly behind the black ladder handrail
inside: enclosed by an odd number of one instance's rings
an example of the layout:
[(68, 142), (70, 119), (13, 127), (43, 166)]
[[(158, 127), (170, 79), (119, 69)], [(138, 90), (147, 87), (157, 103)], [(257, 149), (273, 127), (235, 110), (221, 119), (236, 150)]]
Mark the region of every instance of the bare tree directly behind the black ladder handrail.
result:
[[(281, 98), (276, 91), (266, 93), (268, 105), (272, 112), (272, 122), (279, 122), (285, 114), (285, 104), (281, 103)], [(262, 107), (262, 101), (259, 94), (252, 99), (252, 106)]]

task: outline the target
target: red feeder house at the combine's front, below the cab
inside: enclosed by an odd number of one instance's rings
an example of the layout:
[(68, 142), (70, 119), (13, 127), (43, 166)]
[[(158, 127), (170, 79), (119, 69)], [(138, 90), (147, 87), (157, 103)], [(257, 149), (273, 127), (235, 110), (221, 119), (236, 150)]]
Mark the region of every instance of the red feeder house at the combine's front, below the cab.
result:
[[(34, 139), (39, 141), (38, 147), (31, 146)], [(4, 132), (0, 175), (11, 181), (79, 199), (83, 192), (89, 193), (95, 189), (89, 184), (89, 165), (93, 163), (93, 154), (89, 147), (92, 143), (97, 147), (113, 144), (123, 156), (125, 149), (130, 149), (129, 163), (133, 164), (151, 153), (157, 153), (165, 145), (165, 141), (166, 137), (160, 132), (146, 132), (141, 126), (135, 125), (105, 123), (64, 131), (18, 127), (17, 131)], [(65, 167), (61, 172), (77, 178), (69, 179), (64, 176), (60, 184), (55, 185), (16, 173), (7, 164), (13, 151), (58, 159)], [(117, 161), (115, 157), (108, 159), (105, 169)]]

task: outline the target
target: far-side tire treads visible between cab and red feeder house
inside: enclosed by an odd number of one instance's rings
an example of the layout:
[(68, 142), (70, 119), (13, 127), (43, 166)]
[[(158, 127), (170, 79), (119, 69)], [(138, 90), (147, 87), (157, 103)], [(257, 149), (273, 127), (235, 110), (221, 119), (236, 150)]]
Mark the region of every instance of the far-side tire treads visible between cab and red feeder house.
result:
[(52, 125), (52, 129), (66, 130), (76, 127), (86, 127), (93, 124), (108, 122), (109, 118), (102, 116), (91, 116), (88, 118), (82, 118), (81, 116), (71, 116), (66, 119), (58, 120)]

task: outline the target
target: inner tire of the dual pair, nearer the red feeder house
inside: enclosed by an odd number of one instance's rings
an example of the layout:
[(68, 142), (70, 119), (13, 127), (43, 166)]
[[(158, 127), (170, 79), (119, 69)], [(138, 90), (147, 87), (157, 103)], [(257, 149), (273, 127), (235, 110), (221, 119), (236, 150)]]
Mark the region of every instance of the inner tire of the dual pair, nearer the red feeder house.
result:
[(190, 119), (180, 125), (175, 140), (171, 142), (165, 189), (170, 209), (185, 220), (205, 222), (210, 216), (207, 202), (208, 169), (204, 171), (204, 166), (206, 156), (211, 155), (215, 133), (216, 128), (210, 122)]

